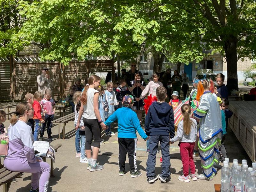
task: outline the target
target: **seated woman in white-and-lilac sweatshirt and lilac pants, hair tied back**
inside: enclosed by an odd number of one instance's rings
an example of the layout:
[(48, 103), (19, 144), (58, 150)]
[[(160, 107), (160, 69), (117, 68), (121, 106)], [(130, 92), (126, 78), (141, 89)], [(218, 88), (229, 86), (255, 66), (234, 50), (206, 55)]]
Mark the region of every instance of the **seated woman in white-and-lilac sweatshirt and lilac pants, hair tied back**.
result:
[(4, 165), (12, 172), (32, 173), (30, 192), (45, 192), (49, 183), (50, 165), (35, 156), (32, 130), (27, 125), (28, 119), (33, 116), (34, 110), (30, 103), (20, 102), (16, 106), (16, 112), (10, 119), (9, 149)]

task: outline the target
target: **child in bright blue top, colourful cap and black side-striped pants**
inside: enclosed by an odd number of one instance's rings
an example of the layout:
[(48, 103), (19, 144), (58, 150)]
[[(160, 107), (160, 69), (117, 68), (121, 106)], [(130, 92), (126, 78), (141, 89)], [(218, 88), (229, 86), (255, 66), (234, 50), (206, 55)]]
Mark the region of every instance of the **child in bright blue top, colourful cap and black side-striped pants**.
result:
[(117, 109), (117, 111), (106, 120), (105, 125), (110, 126), (116, 119), (118, 121), (119, 175), (122, 176), (125, 173), (126, 153), (128, 153), (131, 177), (138, 177), (142, 175), (142, 173), (137, 170), (136, 165), (136, 131), (144, 140), (147, 140), (148, 136), (142, 130), (139, 119), (132, 110), (132, 106), (133, 96), (125, 95), (123, 97), (123, 107)]

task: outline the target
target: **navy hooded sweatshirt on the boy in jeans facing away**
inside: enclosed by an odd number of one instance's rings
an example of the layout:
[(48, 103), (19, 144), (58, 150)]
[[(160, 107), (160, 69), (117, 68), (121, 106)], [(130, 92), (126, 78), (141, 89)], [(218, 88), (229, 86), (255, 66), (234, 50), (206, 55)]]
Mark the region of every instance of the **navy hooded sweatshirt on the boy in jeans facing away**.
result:
[(166, 102), (152, 103), (146, 115), (145, 132), (148, 136), (170, 135), (170, 138), (173, 138), (175, 130), (172, 106)]

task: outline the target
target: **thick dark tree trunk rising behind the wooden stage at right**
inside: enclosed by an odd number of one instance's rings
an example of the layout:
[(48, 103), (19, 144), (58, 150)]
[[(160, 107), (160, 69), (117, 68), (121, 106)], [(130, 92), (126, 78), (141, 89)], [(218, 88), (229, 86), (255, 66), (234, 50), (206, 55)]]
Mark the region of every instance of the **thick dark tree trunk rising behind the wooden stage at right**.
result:
[(227, 60), (227, 88), (229, 94), (233, 89), (238, 90), (237, 79), (237, 38), (228, 36), (225, 38), (225, 45), (223, 46)]

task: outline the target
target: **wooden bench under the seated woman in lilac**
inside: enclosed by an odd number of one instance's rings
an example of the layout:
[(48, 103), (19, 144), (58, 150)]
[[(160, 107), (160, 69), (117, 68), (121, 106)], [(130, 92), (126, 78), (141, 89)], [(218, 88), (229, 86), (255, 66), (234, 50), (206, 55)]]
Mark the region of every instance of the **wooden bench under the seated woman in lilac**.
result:
[[(61, 147), (61, 144), (56, 144), (52, 148), (54, 148), (55, 153), (58, 151), (58, 148)], [(46, 162), (46, 158), (42, 157), (43, 161)], [(51, 176), (53, 175), (53, 161), (51, 159)], [(11, 182), (13, 179), (17, 178), (20, 176), (22, 172), (12, 172), (9, 171), (6, 168), (0, 169), (0, 185), (3, 185), (3, 192), (8, 192), (11, 186)]]

